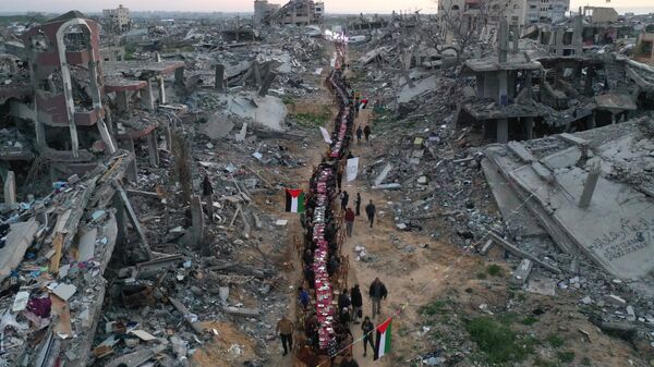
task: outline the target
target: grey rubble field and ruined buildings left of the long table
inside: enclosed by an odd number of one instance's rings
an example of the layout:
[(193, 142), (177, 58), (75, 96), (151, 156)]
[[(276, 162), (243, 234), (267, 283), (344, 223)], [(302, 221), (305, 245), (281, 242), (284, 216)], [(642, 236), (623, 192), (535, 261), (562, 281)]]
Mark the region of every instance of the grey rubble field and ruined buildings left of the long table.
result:
[(0, 365), (263, 366), (290, 289), (268, 197), (305, 164), (282, 97), (324, 79), (322, 40), (157, 25), (100, 60), (96, 27), (72, 11), (0, 57)]

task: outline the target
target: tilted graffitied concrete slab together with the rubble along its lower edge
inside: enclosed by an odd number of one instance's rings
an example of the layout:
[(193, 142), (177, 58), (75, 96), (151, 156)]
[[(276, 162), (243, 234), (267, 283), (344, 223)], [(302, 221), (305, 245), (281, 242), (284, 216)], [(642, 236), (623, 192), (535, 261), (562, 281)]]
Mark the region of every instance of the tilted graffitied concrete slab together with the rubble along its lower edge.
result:
[[(580, 303), (596, 306), (601, 328), (625, 322), (613, 327), (650, 340), (653, 129), (653, 120), (638, 119), (577, 134), (489, 145), (482, 161), (502, 215), (519, 210), (517, 217), (525, 224), (518, 233), (491, 240), (500, 245), (513, 242), (535, 257), (531, 260), (560, 269), (554, 277), (526, 271), (521, 283), (531, 289), (538, 278), (552, 278), (547, 292), (569, 289)], [(525, 205), (519, 208), (522, 201)], [(533, 288), (538, 292), (537, 285)]]

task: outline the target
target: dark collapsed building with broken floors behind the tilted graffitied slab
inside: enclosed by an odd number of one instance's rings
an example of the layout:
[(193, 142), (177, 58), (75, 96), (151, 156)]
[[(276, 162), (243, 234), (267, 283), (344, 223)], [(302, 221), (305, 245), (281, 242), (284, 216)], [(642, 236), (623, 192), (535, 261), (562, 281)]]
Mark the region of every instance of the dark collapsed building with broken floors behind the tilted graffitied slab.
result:
[[(584, 56), (581, 19), (571, 52), (559, 38), (555, 56), (520, 51), (500, 27), (497, 57), (467, 60), (461, 75), (473, 76), (476, 90), (460, 106), (458, 123), (481, 124), (499, 143), (556, 132), (594, 129), (651, 110), (653, 70), (617, 54)], [(504, 36), (502, 36), (504, 35)]]

